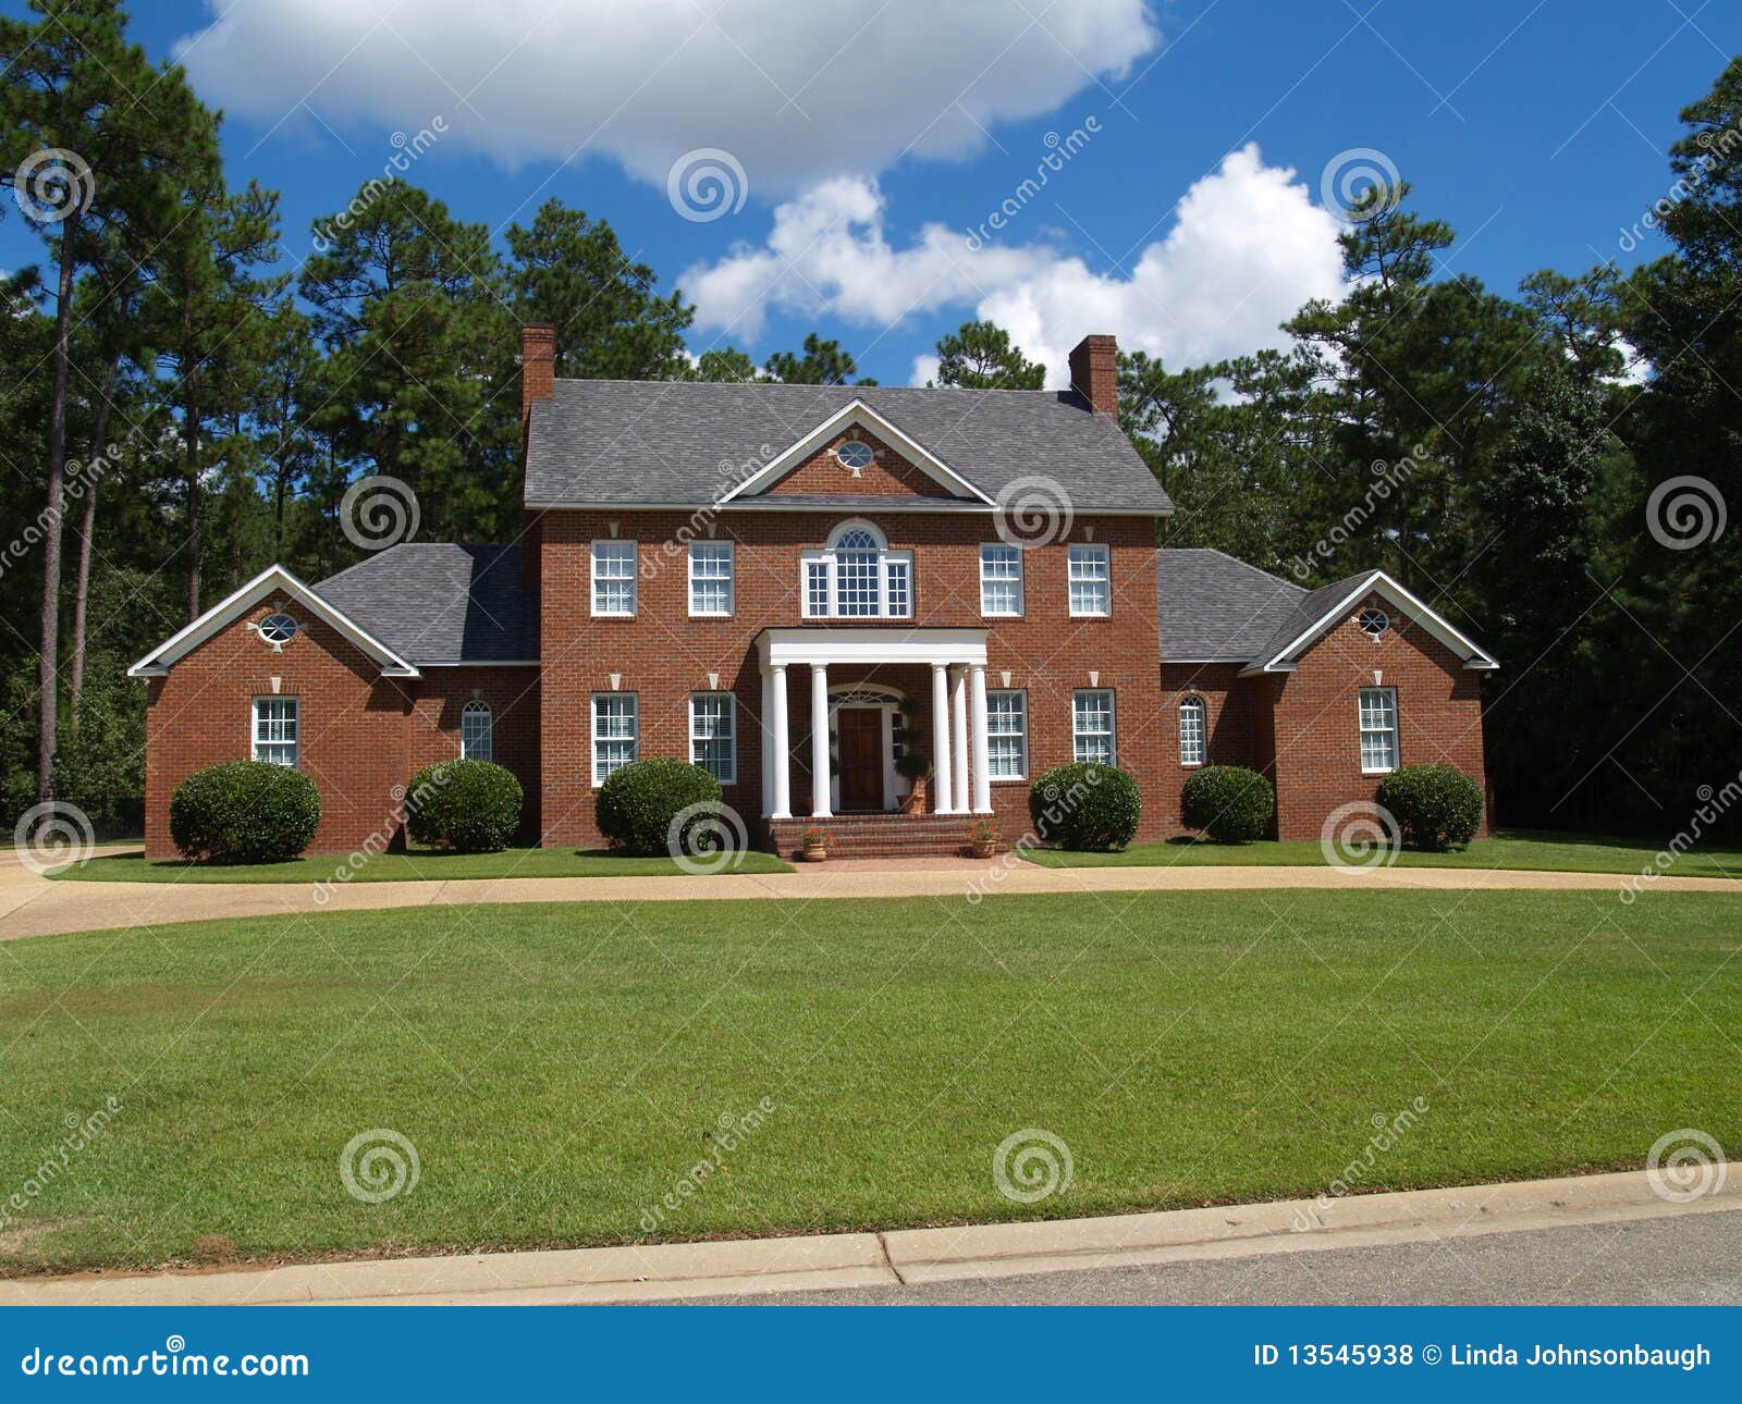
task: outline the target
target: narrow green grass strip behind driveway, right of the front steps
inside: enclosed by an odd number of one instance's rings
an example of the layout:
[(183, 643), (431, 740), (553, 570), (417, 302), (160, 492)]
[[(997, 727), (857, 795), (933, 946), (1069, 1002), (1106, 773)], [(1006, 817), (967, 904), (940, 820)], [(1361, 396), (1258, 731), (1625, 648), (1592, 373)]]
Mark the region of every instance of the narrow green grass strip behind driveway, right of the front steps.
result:
[[(1536, 869), (1561, 873), (1639, 873), (1655, 867), (1660, 845), (1625, 838), (1498, 829), (1455, 854), (1397, 855), (1401, 867)], [(1031, 848), (1023, 857), (1042, 867), (1167, 867), (1171, 864), (1228, 867), (1322, 867), (1324, 850), (1306, 843), (1211, 843), (1176, 838), (1132, 843), (1118, 854), (1066, 854)], [(1742, 848), (1707, 847), (1662, 869), (1676, 878), (1742, 878)]]

